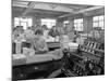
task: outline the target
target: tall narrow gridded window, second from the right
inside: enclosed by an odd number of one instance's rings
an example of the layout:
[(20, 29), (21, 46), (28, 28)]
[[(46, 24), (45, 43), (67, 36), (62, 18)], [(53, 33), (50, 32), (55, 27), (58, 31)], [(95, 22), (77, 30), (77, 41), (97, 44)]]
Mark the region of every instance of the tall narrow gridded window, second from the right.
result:
[(74, 19), (74, 27), (76, 31), (83, 31), (83, 18)]

